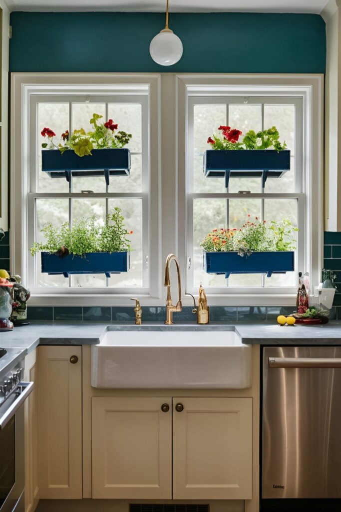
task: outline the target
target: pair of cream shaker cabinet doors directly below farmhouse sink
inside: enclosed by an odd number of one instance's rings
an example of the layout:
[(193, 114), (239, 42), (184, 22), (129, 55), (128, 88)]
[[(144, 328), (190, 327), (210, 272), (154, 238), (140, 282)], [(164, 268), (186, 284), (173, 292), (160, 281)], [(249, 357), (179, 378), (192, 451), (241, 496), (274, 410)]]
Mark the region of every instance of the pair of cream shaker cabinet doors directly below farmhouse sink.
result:
[(252, 398), (93, 397), (92, 474), (93, 498), (251, 499)]

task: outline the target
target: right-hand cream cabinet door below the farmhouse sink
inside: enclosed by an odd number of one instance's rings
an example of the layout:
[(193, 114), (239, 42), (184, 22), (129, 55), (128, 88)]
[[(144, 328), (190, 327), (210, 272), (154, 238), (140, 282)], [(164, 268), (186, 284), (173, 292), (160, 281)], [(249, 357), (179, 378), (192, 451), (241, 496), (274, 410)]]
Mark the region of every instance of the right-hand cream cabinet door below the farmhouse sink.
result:
[(173, 498), (251, 497), (252, 398), (173, 398)]

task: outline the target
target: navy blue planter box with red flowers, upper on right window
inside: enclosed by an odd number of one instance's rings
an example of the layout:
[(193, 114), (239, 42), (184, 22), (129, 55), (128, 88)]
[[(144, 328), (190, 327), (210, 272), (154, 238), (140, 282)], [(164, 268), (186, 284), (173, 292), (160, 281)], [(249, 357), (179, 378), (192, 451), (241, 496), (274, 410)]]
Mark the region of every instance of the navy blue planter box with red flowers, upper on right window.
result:
[(207, 178), (225, 178), (229, 188), (230, 177), (281, 178), (290, 170), (290, 151), (275, 150), (207, 150), (204, 154), (204, 175)]

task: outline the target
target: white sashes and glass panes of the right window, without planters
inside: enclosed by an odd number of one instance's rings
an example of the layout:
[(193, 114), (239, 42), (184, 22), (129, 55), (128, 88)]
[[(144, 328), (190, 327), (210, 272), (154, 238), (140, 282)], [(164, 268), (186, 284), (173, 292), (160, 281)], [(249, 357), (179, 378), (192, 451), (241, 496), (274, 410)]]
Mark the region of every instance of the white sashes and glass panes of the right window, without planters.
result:
[[(297, 285), (297, 271), (273, 274), (271, 278), (258, 274), (232, 274), (228, 280), (221, 275), (210, 275), (202, 269), (204, 236), (216, 227), (239, 228), (247, 219), (280, 220), (290, 216), (298, 225), (295, 269), (304, 261), (304, 195), (303, 195), (303, 113), (301, 97), (189, 96), (187, 125), (187, 290), (195, 292), (200, 283), (210, 293), (236, 293), (238, 289), (260, 292), (278, 289), (292, 292)], [(276, 125), (281, 141), (290, 150), (290, 170), (280, 179), (268, 178), (265, 189), (261, 178), (231, 178), (229, 189), (223, 179), (205, 178), (203, 154), (210, 149), (207, 139), (218, 134), (220, 124), (255, 131)], [(248, 194), (238, 194), (248, 190)], [(285, 198), (285, 199), (284, 199)], [(298, 212), (300, 211), (300, 216)]]

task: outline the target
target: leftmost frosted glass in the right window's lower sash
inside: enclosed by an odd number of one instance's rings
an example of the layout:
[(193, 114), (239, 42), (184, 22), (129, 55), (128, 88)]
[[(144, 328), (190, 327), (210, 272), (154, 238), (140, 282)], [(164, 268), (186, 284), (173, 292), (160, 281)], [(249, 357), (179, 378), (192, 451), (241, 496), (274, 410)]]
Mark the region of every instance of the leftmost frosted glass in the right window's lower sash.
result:
[(225, 227), (224, 199), (194, 199), (193, 201), (193, 272), (194, 286), (225, 286), (224, 275), (206, 273), (202, 268), (203, 252), (200, 242), (215, 228)]

